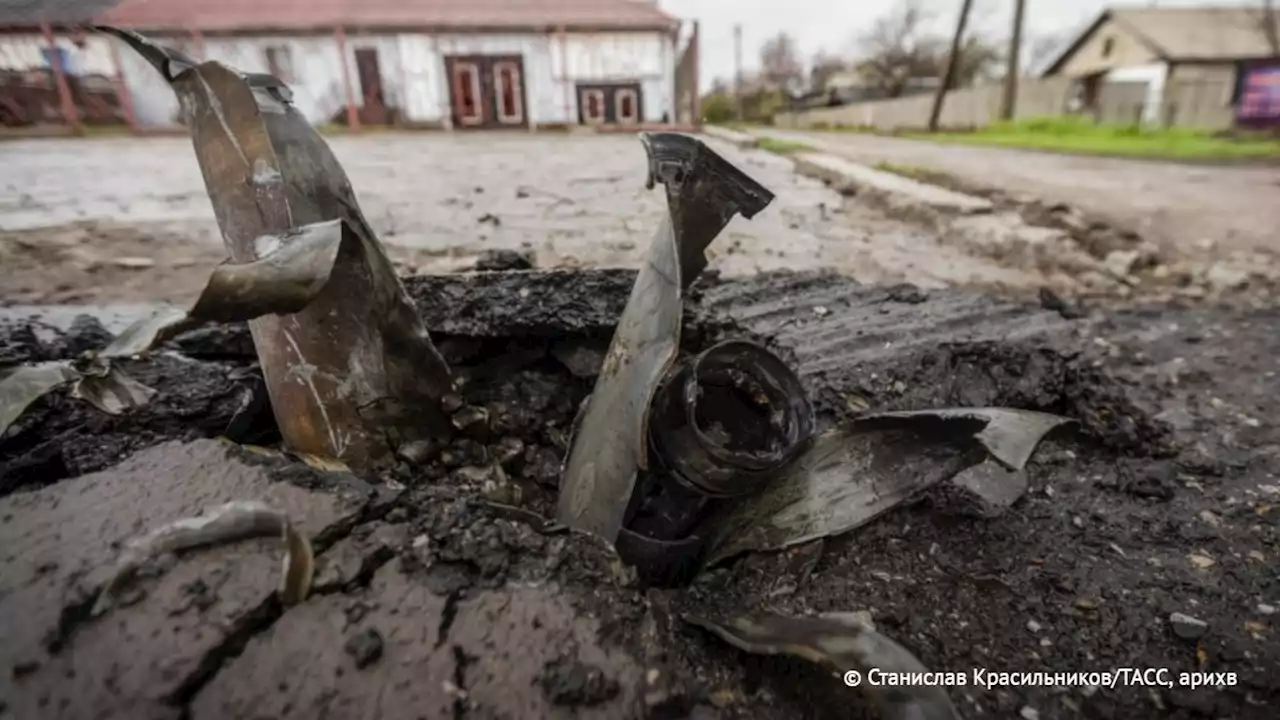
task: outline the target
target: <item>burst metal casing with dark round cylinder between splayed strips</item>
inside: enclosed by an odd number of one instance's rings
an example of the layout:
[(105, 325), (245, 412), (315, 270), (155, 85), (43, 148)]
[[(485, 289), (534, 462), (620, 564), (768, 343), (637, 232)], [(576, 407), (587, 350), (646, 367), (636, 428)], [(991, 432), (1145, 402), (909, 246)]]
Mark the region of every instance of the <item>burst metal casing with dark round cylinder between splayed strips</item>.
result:
[(814, 438), (804, 387), (776, 355), (730, 341), (677, 361), (682, 292), (735, 215), (772, 199), (684, 136), (644, 136), (668, 215), (576, 421), (558, 518), (613, 542), (653, 582), (749, 551), (837, 536), (950, 482), (952, 507), (993, 515), (1068, 419), (1001, 407), (863, 415)]

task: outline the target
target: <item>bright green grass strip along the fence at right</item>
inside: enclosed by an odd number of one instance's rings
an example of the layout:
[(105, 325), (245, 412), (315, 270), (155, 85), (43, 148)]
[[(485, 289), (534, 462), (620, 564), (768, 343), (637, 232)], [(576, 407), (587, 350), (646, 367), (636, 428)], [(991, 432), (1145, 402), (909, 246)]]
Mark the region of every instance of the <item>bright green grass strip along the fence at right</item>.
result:
[(996, 123), (974, 132), (908, 133), (908, 137), (1027, 147), (1084, 155), (1172, 159), (1280, 159), (1280, 140), (1216, 137), (1194, 128), (1094, 124), (1080, 118), (1039, 118)]

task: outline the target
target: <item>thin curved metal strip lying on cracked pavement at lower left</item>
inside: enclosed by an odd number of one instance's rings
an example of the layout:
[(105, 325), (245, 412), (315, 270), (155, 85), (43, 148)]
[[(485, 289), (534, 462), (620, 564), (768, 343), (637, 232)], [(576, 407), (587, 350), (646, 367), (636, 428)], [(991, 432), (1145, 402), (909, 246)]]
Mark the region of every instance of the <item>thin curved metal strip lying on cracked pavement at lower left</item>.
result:
[(129, 541), (110, 579), (99, 593), (92, 614), (109, 610), (124, 585), (148, 560), (160, 555), (241, 539), (279, 537), (284, 543), (280, 602), (297, 605), (311, 592), (315, 555), (311, 542), (289, 521), (288, 515), (257, 501), (236, 501), (211, 507), (202, 515), (183, 518)]

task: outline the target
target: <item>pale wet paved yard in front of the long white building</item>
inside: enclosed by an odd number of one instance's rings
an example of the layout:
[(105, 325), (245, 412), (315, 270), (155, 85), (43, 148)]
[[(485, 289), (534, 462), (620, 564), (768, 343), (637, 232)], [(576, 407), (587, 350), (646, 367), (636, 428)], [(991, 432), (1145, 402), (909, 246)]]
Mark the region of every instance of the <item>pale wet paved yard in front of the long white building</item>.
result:
[[(636, 266), (663, 210), (627, 136), (380, 133), (329, 138), (393, 259), (467, 268), (486, 249), (541, 266)], [(1034, 287), (1034, 274), (940, 245), (931, 231), (846, 201), (763, 151), (716, 145), (777, 193), (712, 246), (728, 275), (836, 268), (867, 282)], [(184, 138), (0, 143), (0, 302), (192, 296), (221, 260)]]

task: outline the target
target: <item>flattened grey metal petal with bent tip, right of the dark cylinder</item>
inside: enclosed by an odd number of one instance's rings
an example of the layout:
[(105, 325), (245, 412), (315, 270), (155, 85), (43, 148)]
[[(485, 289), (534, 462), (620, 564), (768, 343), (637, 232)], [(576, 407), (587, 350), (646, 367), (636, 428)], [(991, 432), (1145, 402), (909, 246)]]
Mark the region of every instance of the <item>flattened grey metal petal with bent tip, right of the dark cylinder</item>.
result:
[[(1068, 423), (1005, 407), (864, 415), (819, 436), (783, 477), (710, 521), (707, 562), (847, 533), (987, 457), (1011, 470), (988, 483), (1024, 488), (1023, 466), (1050, 430)], [(965, 479), (957, 489), (1009, 502), (1007, 488)]]

